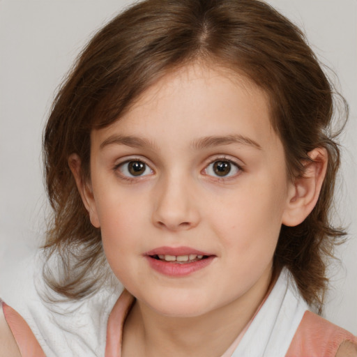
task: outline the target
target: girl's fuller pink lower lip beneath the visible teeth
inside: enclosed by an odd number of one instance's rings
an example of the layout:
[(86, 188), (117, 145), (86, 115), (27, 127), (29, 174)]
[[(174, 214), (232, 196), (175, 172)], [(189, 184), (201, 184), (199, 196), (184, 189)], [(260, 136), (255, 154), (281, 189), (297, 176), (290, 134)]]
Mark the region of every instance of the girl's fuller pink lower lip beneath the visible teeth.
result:
[(154, 259), (149, 255), (146, 256), (151, 268), (163, 275), (172, 277), (183, 277), (195, 273), (195, 271), (199, 271), (211, 264), (214, 258), (215, 256), (211, 255), (206, 259), (192, 261), (191, 263), (173, 263), (171, 261)]

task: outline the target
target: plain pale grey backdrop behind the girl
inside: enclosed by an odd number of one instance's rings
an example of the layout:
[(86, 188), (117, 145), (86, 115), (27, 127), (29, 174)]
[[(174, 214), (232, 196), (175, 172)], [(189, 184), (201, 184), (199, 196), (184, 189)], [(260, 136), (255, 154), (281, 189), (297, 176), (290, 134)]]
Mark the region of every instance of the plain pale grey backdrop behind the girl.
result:
[[(131, 2), (0, 0), (0, 291), (45, 231), (40, 146), (56, 88), (89, 37)], [(334, 216), (349, 241), (330, 268), (325, 316), (357, 335), (357, 1), (268, 2), (305, 31), (350, 105)]]

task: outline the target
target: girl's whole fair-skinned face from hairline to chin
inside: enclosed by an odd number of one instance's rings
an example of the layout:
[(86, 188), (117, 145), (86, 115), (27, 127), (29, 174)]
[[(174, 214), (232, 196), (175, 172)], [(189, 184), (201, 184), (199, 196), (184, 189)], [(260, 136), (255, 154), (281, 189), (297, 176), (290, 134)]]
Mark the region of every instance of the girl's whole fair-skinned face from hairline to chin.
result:
[(257, 303), (294, 191), (286, 172), (264, 92), (191, 66), (92, 132), (91, 221), (116, 277), (155, 312)]

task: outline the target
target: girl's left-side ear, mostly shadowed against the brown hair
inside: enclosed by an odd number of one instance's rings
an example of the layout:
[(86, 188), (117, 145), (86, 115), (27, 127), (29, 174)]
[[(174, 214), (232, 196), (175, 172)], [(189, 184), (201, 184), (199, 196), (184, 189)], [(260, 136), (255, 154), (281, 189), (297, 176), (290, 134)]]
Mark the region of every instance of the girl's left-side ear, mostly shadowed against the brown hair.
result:
[(70, 167), (70, 171), (75, 177), (75, 183), (77, 184), (79, 195), (81, 195), (82, 202), (89, 213), (91, 224), (94, 227), (99, 228), (100, 223), (96, 208), (96, 201), (94, 199), (90, 183), (84, 182), (83, 180), (81, 159), (77, 154), (73, 153), (68, 158), (68, 165)]

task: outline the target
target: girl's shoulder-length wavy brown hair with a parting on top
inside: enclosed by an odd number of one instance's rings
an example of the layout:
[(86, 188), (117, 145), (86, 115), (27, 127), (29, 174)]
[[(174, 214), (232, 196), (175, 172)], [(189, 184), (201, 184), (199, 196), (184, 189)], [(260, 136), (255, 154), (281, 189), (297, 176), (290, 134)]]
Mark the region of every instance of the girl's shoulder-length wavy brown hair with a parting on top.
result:
[[(317, 205), (297, 227), (282, 227), (275, 269), (287, 266), (307, 301), (321, 308), (326, 256), (344, 233), (329, 223), (340, 151), (329, 133), (333, 90), (303, 33), (257, 0), (147, 0), (109, 22), (89, 42), (54, 100), (44, 134), (47, 192), (54, 214), (48, 257), (59, 253), (59, 279), (45, 278), (67, 298), (98, 289), (105, 274), (100, 230), (79, 197), (68, 156), (90, 178), (90, 132), (118, 120), (172, 68), (192, 61), (243, 73), (270, 98), (271, 121), (284, 145), (288, 174), (303, 174), (307, 153), (323, 147), (328, 169)], [(89, 274), (89, 271), (91, 274)]]

